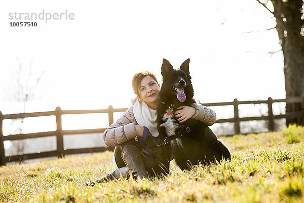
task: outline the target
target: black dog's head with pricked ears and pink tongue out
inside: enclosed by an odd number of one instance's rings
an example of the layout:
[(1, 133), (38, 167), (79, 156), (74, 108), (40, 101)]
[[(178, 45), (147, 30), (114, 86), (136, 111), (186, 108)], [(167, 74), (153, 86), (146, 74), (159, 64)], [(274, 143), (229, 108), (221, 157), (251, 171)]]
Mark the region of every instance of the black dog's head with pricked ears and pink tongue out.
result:
[(190, 59), (188, 58), (181, 64), (178, 70), (174, 70), (170, 62), (163, 59), (163, 92), (174, 96), (180, 103), (183, 103), (187, 98), (192, 99), (193, 97), (191, 76), (189, 75), (189, 61)]

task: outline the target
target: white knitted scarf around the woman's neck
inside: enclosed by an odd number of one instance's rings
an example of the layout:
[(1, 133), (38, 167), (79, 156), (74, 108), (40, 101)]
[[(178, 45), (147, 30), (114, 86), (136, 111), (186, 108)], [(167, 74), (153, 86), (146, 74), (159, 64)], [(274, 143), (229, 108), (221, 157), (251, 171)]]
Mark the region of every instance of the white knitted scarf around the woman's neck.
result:
[(157, 129), (157, 110), (153, 110), (142, 101), (142, 104), (138, 100), (133, 105), (133, 113), (138, 125), (146, 126), (153, 137), (158, 137), (159, 132)]

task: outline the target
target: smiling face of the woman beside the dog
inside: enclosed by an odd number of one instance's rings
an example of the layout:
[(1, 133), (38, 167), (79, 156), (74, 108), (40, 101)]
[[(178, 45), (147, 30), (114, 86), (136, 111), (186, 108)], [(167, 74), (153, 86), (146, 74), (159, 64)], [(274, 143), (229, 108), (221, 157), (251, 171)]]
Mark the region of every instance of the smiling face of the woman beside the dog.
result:
[(158, 105), (160, 87), (150, 76), (145, 76), (139, 86), (139, 95), (147, 103), (148, 107), (155, 109)]

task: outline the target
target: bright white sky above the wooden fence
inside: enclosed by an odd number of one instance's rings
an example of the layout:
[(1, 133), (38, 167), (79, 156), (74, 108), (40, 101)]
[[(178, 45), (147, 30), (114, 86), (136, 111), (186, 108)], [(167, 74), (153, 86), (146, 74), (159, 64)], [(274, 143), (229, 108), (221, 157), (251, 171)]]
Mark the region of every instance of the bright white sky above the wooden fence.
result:
[[(74, 20), (9, 26), (21, 22), (9, 20), (9, 13), (43, 10), (67, 10)], [(191, 59), (195, 98), (202, 103), (284, 98), (282, 53), (269, 54), (280, 50), (277, 32), (263, 31), (274, 26), (255, 0), (2, 1), (0, 111), (18, 111), (12, 72), (31, 61), (33, 76), (45, 74), (27, 112), (128, 107), (133, 75), (148, 70), (161, 81), (163, 58), (175, 68)]]

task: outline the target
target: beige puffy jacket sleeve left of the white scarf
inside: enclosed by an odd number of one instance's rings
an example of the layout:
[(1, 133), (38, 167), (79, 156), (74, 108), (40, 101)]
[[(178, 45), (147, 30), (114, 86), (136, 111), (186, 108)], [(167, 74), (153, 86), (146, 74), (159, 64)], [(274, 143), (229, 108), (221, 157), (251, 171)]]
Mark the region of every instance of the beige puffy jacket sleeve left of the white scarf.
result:
[(116, 123), (111, 124), (103, 133), (103, 141), (109, 147), (115, 147), (138, 136), (135, 130), (133, 107), (121, 116)]

